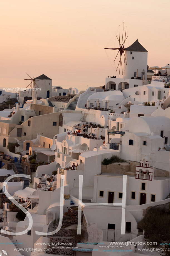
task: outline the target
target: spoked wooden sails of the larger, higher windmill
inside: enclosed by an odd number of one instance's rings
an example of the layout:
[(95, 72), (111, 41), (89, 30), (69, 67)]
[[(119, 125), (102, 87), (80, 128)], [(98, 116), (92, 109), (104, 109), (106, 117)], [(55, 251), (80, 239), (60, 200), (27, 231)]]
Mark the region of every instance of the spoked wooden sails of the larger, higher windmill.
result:
[[(117, 37), (117, 35), (116, 35)], [(119, 52), (120, 52), (120, 59), (119, 59), (119, 63), (118, 63), (118, 66), (116, 68), (116, 72), (119, 68), (119, 76), (120, 76), (120, 69), (122, 69), (122, 75), (123, 75), (123, 68), (122, 68), (122, 55), (124, 54), (124, 46), (125, 46), (125, 41), (126, 39), (128, 38), (128, 36), (126, 37), (126, 27), (125, 27), (125, 35), (124, 35), (124, 23), (123, 23), (123, 31), (122, 31), (122, 35), (120, 35), (120, 25), (119, 25), (119, 38), (117, 37), (117, 40), (119, 42), (119, 47), (118, 48), (104, 48), (104, 49), (108, 49), (108, 50), (115, 50), (115, 51), (118, 51), (117, 52), (117, 55), (115, 57), (115, 59), (117, 58)], [(124, 54), (124, 57), (125, 57), (125, 54)], [(114, 59), (114, 61), (115, 61)], [(126, 57), (125, 57), (125, 61), (126, 61)], [(127, 62), (126, 62), (127, 64)]]

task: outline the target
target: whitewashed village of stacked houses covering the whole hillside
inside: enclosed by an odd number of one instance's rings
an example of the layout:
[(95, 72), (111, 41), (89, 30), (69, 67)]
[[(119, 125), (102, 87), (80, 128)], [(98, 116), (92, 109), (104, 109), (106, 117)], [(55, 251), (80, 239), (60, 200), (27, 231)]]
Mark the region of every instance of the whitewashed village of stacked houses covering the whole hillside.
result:
[[(144, 210), (170, 202), (170, 88), (163, 80), (151, 78), (147, 51), (138, 40), (125, 49), (125, 55), (123, 78), (106, 78), (104, 87), (63, 89), (52, 86), (52, 80), (41, 75), (36, 78), (41, 91), (32, 100), (24, 103), (29, 92), (19, 92), (16, 107), (0, 111), (1, 194), (5, 192), (6, 177), (15, 173), (31, 175), (27, 180), (13, 178), (6, 187), (33, 219), (28, 232), (9, 236), (19, 248), (36, 250), (37, 242), (54, 241), (46, 233), (55, 230), (53, 221), (61, 217), (62, 188), (62, 215), (69, 216), (72, 205), (82, 207), (88, 237), (85, 241), (89, 243), (85, 248), (89, 249), (87, 255), (93, 256), (117, 255), (101, 251), (96, 245), (99, 243), (107, 246), (109, 241), (141, 241), (137, 222)], [(124, 161), (105, 164), (113, 156)], [(36, 168), (35, 172), (31, 173), (31, 168)], [(1, 227), (11, 232), (24, 231), (29, 218), (19, 221), (8, 201), (2, 200), (2, 205), (0, 217), (5, 221)], [(56, 234), (56, 241), (59, 237)], [(1, 232), (3, 241), (7, 238)], [(8, 255), (13, 255), (13, 246), (6, 248)], [(76, 255), (81, 256), (81, 245), (77, 244), (77, 248)], [(133, 250), (133, 254), (121, 255), (141, 255), (137, 248)], [(36, 253), (43, 255), (44, 251)], [(54, 255), (74, 255), (73, 251), (67, 253), (53, 251)]]

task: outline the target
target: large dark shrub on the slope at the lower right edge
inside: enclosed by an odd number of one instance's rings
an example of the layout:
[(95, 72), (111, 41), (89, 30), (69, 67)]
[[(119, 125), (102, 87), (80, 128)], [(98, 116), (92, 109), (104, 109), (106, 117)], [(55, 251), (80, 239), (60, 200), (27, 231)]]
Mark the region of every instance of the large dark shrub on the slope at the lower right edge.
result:
[(152, 207), (138, 223), (138, 228), (143, 229), (145, 237), (151, 242), (167, 241), (170, 238), (170, 210)]

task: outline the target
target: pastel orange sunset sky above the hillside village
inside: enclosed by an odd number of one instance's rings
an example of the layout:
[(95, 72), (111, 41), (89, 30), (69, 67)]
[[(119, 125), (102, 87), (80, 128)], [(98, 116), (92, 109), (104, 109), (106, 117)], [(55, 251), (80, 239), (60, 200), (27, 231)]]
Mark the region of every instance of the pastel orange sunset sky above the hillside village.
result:
[(1, 1), (2, 87), (25, 87), (45, 74), (53, 85), (86, 89), (105, 84), (114, 70), (104, 47), (123, 21), (128, 45), (137, 38), (148, 65), (170, 62), (170, 1)]

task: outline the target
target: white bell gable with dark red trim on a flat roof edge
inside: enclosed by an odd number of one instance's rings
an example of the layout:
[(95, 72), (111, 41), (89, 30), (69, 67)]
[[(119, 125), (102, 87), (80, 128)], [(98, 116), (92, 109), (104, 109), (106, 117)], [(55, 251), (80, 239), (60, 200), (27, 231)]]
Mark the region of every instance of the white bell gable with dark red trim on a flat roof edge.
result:
[[(143, 176), (141, 174), (143, 173)], [(150, 166), (149, 159), (144, 157), (140, 161), (140, 166), (136, 166), (136, 179), (139, 180), (153, 180), (154, 179), (154, 167)]]

